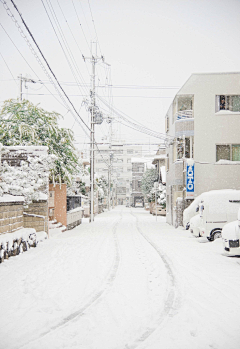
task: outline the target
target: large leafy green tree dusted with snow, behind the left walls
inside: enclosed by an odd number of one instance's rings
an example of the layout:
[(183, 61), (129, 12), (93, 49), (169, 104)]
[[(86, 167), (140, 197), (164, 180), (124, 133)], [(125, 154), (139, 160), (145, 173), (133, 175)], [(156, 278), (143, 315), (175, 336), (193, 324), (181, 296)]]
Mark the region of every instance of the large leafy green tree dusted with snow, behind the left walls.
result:
[(27, 100), (7, 100), (0, 113), (0, 142), (4, 146), (45, 145), (56, 156), (50, 177), (69, 183), (76, 173), (78, 157), (73, 132), (60, 128), (60, 114), (48, 112)]

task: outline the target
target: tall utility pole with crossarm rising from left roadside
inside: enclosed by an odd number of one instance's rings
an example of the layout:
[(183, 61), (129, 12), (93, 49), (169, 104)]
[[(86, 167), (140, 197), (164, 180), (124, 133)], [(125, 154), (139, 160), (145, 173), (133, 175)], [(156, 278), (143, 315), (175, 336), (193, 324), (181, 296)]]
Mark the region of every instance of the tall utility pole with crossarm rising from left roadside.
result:
[[(93, 53), (93, 44), (96, 45), (95, 47), (95, 54)], [(90, 112), (91, 112), (91, 132), (90, 132), (90, 166), (91, 166), (91, 173), (90, 173), (90, 192), (91, 192), (91, 198), (90, 198), (90, 222), (94, 221), (94, 143), (95, 143), (95, 116), (96, 116), (96, 93), (95, 93), (95, 78), (96, 78), (96, 72), (95, 72), (95, 65), (99, 61), (104, 62), (104, 57), (99, 57), (97, 55), (97, 43), (92, 42), (91, 43), (91, 57), (85, 57), (82, 56), (84, 61), (90, 60), (92, 63), (92, 75), (91, 75), (91, 90), (90, 90), (90, 98), (91, 98), (91, 106), (90, 106)], [(105, 63), (105, 62), (104, 62)]]

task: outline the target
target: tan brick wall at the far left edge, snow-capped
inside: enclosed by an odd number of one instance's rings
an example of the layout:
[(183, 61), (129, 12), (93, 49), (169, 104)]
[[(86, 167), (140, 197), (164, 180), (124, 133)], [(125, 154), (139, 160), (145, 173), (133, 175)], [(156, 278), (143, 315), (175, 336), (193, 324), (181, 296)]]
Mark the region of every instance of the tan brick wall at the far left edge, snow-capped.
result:
[(23, 227), (23, 202), (0, 202), (0, 234)]

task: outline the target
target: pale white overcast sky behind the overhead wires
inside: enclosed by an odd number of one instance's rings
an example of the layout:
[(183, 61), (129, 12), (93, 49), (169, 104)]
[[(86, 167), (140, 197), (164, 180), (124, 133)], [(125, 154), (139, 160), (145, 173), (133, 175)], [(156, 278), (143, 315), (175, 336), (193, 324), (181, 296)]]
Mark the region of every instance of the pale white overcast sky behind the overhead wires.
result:
[[(5, 1), (26, 33), (11, 1)], [(88, 97), (90, 87), (70, 86), (70, 83), (76, 85), (76, 79), (47, 13), (60, 40), (62, 38), (58, 32), (56, 19), (64, 34), (64, 39), (71, 50), (70, 55), (74, 57), (74, 64), (81, 74), (77, 77), (78, 82), (90, 83), (91, 65), (89, 62), (84, 63), (82, 54), (88, 57), (90, 42), (98, 39), (98, 53), (104, 55), (111, 68), (102, 63), (98, 64), (96, 84), (106, 87), (97, 88), (97, 93), (103, 96), (107, 103), (111, 102), (109, 96), (112, 94), (114, 107), (158, 132), (164, 132), (165, 113), (177, 92), (176, 88), (180, 88), (192, 73), (240, 70), (240, 0), (14, 0), (14, 2), (77, 110), (83, 99)], [(54, 9), (54, 13), (50, 9)], [(8, 98), (18, 97), (19, 82), (14, 81), (13, 77), (17, 79), (20, 73), (44, 82), (49, 79), (1, 2), (0, 23), (0, 102), (2, 102)], [(26, 36), (36, 49), (27, 33)], [(67, 48), (64, 49), (67, 55)], [(107, 86), (109, 84), (113, 85), (112, 89)], [(47, 86), (53, 94), (56, 94), (50, 84)], [(27, 87), (28, 89), (23, 88), (24, 98), (33, 103), (40, 103), (40, 106), (49, 111), (55, 110), (65, 115), (62, 125), (74, 130), (79, 148), (83, 146), (82, 143), (88, 142), (77, 122), (74, 123), (73, 116), (49, 94), (44, 85), (27, 84)], [(99, 105), (101, 106), (100, 102)], [(107, 108), (105, 113), (109, 114)], [(84, 106), (80, 114), (84, 121), (89, 123), (89, 115)], [(107, 135), (108, 125), (104, 122), (96, 128), (97, 139), (100, 141)], [(117, 123), (114, 123), (114, 129), (119, 137), (127, 142), (159, 143), (158, 139), (149, 138), (124, 126), (120, 127)]]

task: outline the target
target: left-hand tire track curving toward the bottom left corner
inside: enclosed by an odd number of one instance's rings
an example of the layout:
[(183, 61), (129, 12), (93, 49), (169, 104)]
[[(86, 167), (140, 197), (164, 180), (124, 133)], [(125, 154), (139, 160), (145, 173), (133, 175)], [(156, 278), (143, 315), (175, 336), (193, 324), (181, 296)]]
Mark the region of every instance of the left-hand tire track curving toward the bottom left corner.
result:
[(82, 306), (80, 309), (78, 309), (74, 313), (65, 317), (57, 325), (52, 326), (48, 331), (45, 331), (42, 334), (40, 334), (40, 336), (38, 338), (36, 338), (28, 343), (25, 343), (21, 347), (18, 347), (18, 349), (24, 348), (25, 346), (28, 346), (29, 344), (38, 341), (39, 339), (41, 339), (41, 338), (45, 337), (46, 335), (48, 335), (49, 333), (51, 333), (52, 331), (58, 330), (59, 328), (67, 325), (70, 321), (75, 320), (78, 317), (84, 315), (85, 311), (88, 308), (90, 308), (92, 305), (94, 305), (104, 295), (104, 293), (107, 291), (107, 289), (109, 289), (112, 286), (114, 280), (116, 279), (117, 271), (118, 271), (119, 264), (120, 264), (120, 248), (119, 248), (119, 244), (118, 244), (118, 240), (117, 240), (116, 231), (117, 231), (117, 227), (118, 227), (121, 220), (122, 220), (122, 211), (120, 212), (120, 219), (115, 223), (115, 225), (112, 228), (114, 247), (115, 247), (115, 259), (113, 262), (113, 266), (112, 266), (110, 272), (108, 273), (108, 276), (107, 276), (107, 279), (105, 282), (105, 286), (101, 290), (99, 290), (98, 292), (95, 292), (93, 294), (93, 296), (90, 298), (90, 300), (84, 306)]

